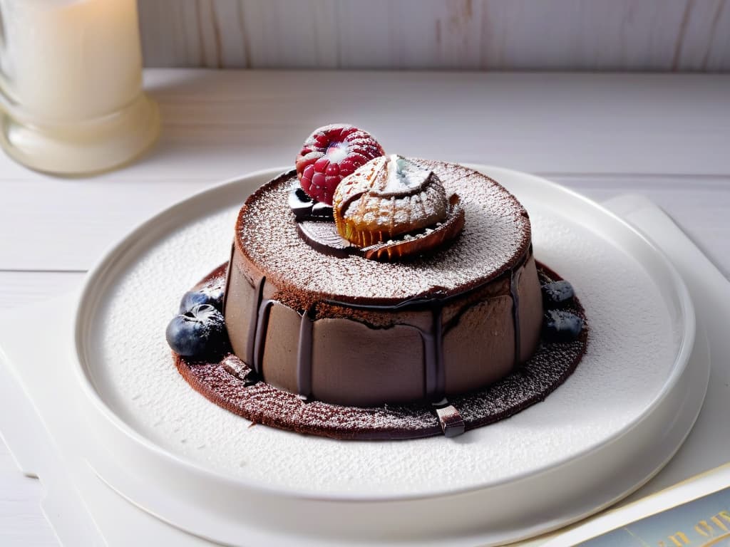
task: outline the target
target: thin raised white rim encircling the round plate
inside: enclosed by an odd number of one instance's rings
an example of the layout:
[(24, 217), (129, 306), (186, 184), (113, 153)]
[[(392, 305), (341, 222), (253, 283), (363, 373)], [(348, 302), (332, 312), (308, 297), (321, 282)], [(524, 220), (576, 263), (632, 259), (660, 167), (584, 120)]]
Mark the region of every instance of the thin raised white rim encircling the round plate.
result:
[[(122, 419), (118, 414), (111, 408), (110, 405), (107, 404), (106, 401), (101, 397), (101, 394), (96, 389), (96, 386), (94, 385), (93, 378), (91, 377), (91, 374), (88, 371), (88, 365), (86, 365), (83, 362), (82, 355), (85, 353), (83, 348), (83, 329), (82, 324), (84, 322), (84, 317), (88, 316), (91, 312), (89, 309), (89, 301), (93, 303), (96, 298), (91, 298), (93, 296), (93, 287), (99, 286), (101, 287), (101, 283), (104, 281), (104, 274), (106, 273), (108, 268), (111, 268), (113, 266), (113, 263), (118, 258), (118, 255), (125, 252), (126, 249), (131, 245), (134, 244), (135, 241), (139, 238), (139, 236), (143, 233), (145, 233), (145, 230), (150, 227), (150, 225), (155, 225), (156, 223), (160, 222), (165, 217), (168, 217), (171, 214), (174, 214), (176, 209), (183, 208), (185, 206), (189, 206), (189, 204), (193, 201), (197, 201), (201, 198), (204, 198), (207, 195), (212, 195), (215, 193), (219, 193), (221, 190), (224, 190), (226, 187), (234, 187), (237, 185), (244, 185), (244, 184), (250, 184), (251, 179), (257, 179), (262, 177), (267, 177), (266, 179), (270, 179), (273, 176), (276, 176), (277, 174), (282, 173), (283, 171), (288, 171), (290, 167), (283, 167), (283, 168), (269, 168), (269, 169), (261, 169), (258, 171), (252, 171), (248, 174), (244, 174), (242, 176), (236, 176), (231, 179), (226, 179), (222, 182), (219, 182), (215, 185), (212, 185), (210, 187), (204, 188), (203, 190), (200, 190), (196, 193), (193, 193), (191, 195), (188, 195), (185, 198), (181, 198), (179, 201), (173, 203), (171, 206), (166, 207), (161, 212), (158, 212), (158, 214), (153, 215), (149, 219), (145, 220), (144, 222), (137, 225), (136, 228), (132, 229), (128, 233), (126, 233), (122, 238), (120, 238), (118, 241), (115, 242), (115, 244), (112, 244), (104, 253), (101, 255), (99, 260), (96, 261), (96, 263), (93, 265), (93, 267), (88, 271), (88, 274), (85, 276), (84, 282), (82, 284), (82, 287), (80, 287), (79, 292), (79, 298), (77, 302), (77, 306), (74, 309), (74, 314), (72, 317), (72, 329), (73, 329), (73, 352), (72, 352), (72, 361), (74, 363), (74, 371), (77, 376), (78, 383), (80, 384), (80, 387), (82, 389), (82, 392), (87, 397), (88, 400), (91, 401), (93, 404), (93, 407), (96, 408), (97, 411), (101, 414), (101, 416), (104, 417), (104, 419), (107, 422), (110, 422), (112, 426), (115, 427), (115, 429), (118, 432), (123, 433), (123, 435), (126, 436), (126, 438), (130, 439), (131, 441), (134, 441), (134, 443), (137, 443), (142, 449), (153, 451), (153, 453), (157, 454), (159, 457), (163, 457), (164, 459), (168, 459), (171, 462), (173, 462), (175, 465), (181, 466), (185, 470), (202, 474), (204, 477), (210, 477), (215, 479), (216, 481), (224, 481), (229, 484), (235, 484), (238, 487), (241, 487), (243, 489), (247, 489), (251, 492), (261, 492), (263, 494), (268, 495), (274, 495), (274, 496), (283, 496), (287, 497), (289, 499), (299, 499), (299, 500), (319, 500), (324, 502), (337, 502), (337, 501), (350, 501), (350, 502), (362, 502), (362, 503), (374, 503), (374, 502), (393, 502), (393, 501), (407, 501), (407, 500), (428, 500), (434, 497), (443, 497), (443, 496), (449, 496), (449, 495), (456, 495), (456, 494), (468, 494), (469, 492), (477, 492), (483, 489), (490, 489), (493, 487), (500, 487), (504, 486), (505, 484), (509, 484), (515, 481), (521, 481), (528, 478), (533, 478), (535, 476), (540, 476), (543, 474), (550, 473), (552, 470), (556, 470), (558, 468), (561, 468), (562, 466), (568, 464), (572, 460), (580, 459), (586, 456), (589, 456), (597, 451), (601, 451), (605, 449), (608, 445), (614, 443), (615, 441), (618, 441), (623, 435), (629, 434), (631, 431), (633, 431), (636, 427), (639, 427), (641, 422), (648, 416), (651, 411), (656, 409), (656, 407), (661, 404), (661, 402), (669, 395), (669, 393), (672, 392), (672, 388), (674, 388), (677, 384), (677, 381), (680, 379), (682, 372), (686, 368), (688, 364), (688, 359), (691, 354), (691, 350), (694, 346), (695, 341), (695, 334), (696, 334), (696, 318), (694, 313), (694, 306), (692, 304), (691, 298), (689, 296), (688, 289), (683, 282), (683, 279), (678, 274), (675, 266), (669, 261), (669, 259), (666, 257), (664, 252), (661, 251), (655, 244), (653, 244), (652, 241), (650, 241), (648, 238), (646, 238), (642, 233), (639, 232), (636, 228), (631, 226), (626, 220), (623, 220), (621, 217), (619, 217), (617, 214), (611, 212), (609, 209), (604, 208), (599, 203), (596, 203), (595, 201), (592, 201), (589, 198), (586, 198), (585, 196), (581, 195), (580, 193), (575, 192), (574, 190), (570, 190), (569, 188), (566, 188), (562, 185), (558, 185), (555, 182), (552, 182), (548, 179), (545, 179), (541, 176), (536, 176), (528, 173), (524, 173), (521, 171), (515, 171), (508, 168), (502, 168), (498, 166), (488, 166), (478, 163), (462, 163), (462, 165), (473, 168), (477, 171), (480, 171), (482, 173), (491, 173), (489, 176), (492, 176), (492, 178), (495, 178), (497, 182), (502, 184), (502, 182), (499, 180), (499, 176), (496, 176), (497, 174), (509, 174), (510, 176), (519, 176), (519, 177), (528, 177), (533, 182), (537, 182), (540, 185), (548, 185), (553, 188), (553, 190), (557, 190), (563, 193), (568, 193), (569, 195), (572, 195), (573, 198), (578, 198), (580, 201), (583, 202), (585, 206), (590, 206), (593, 209), (599, 210), (602, 214), (607, 215), (612, 219), (614, 222), (618, 222), (619, 224), (623, 225), (623, 228), (626, 228), (633, 233), (634, 237), (639, 238), (642, 241), (642, 244), (645, 244), (648, 246), (652, 251), (655, 253), (656, 257), (660, 260), (662, 263), (662, 266), (666, 269), (666, 271), (669, 273), (670, 278), (672, 278), (673, 282), (673, 289), (676, 291), (676, 294), (678, 296), (678, 302), (680, 303), (680, 310), (684, 316), (683, 321), (683, 333), (681, 334), (680, 339), (680, 346), (677, 350), (677, 354), (675, 355), (675, 360), (672, 363), (672, 371), (669, 374), (669, 376), (665, 379), (664, 384), (661, 387), (661, 390), (656, 394), (656, 396), (653, 398), (653, 400), (648, 403), (648, 405), (644, 408), (641, 414), (638, 416), (634, 416), (634, 419), (631, 420), (631, 422), (627, 423), (625, 426), (621, 428), (621, 430), (618, 430), (617, 432), (614, 432), (612, 435), (610, 435), (607, 438), (604, 438), (599, 443), (596, 443), (593, 446), (588, 447), (587, 449), (583, 449), (582, 451), (578, 451), (577, 453), (571, 454), (569, 456), (563, 457), (561, 459), (554, 460), (550, 463), (550, 465), (542, 465), (539, 467), (536, 467), (532, 470), (529, 470), (525, 473), (520, 473), (518, 476), (508, 476), (501, 478), (496, 481), (491, 482), (480, 482), (480, 484), (475, 485), (469, 485), (469, 486), (461, 486), (458, 489), (437, 489), (432, 490), (425, 493), (417, 493), (417, 494), (398, 494), (398, 493), (388, 493), (388, 494), (356, 494), (353, 492), (312, 492), (310, 490), (304, 490), (304, 489), (292, 489), (292, 488), (284, 488), (284, 487), (274, 487), (269, 486), (266, 484), (260, 484), (254, 481), (249, 481), (242, 477), (237, 476), (231, 476), (226, 473), (223, 473), (222, 471), (213, 470), (211, 468), (206, 468), (203, 465), (199, 464), (198, 462), (195, 462), (192, 459), (188, 459), (183, 457), (180, 454), (174, 454), (171, 451), (168, 451), (164, 449), (163, 446), (158, 445), (154, 441), (152, 441), (150, 438), (147, 438), (145, 435), (142, 435), (142, 433), (138, 432), (134, 429), (134, 427), (131, 426), (131, 424), (128, 424), (124, 419)], [(265, 180), (264, 180), (265, 182)], [(509, 190), (509, 188), (508, 188)], [(91, 309), (93, 309), (93, 306), (91, 306)], [(387, 441), (386, 441), (387, 442)], [(407, 442), (407, 441), (393, 441), (393, 442)], [(666, 460), (669, 461), (669, 460)], [(663, 464), (659, 466), (658, 469), (661, 469), (663, 467)], [(655, 471), (656, 473), (656, 471)], [(628, 492), (627, 492), (628, 493)]]

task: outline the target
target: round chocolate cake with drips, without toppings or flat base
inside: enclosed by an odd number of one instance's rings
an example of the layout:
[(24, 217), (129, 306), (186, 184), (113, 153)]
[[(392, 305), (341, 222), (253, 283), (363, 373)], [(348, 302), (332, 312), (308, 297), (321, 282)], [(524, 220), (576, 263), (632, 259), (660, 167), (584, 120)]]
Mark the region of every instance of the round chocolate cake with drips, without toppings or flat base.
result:
[(383, 263), (315, 249), (291, 213), (294, 172), (247, 199), (224, 314), (235, 354), (268, 384), (342, 405), (438, 401), (534, 353), (542, 296), (525, 209), (476, 171), (410, 162), (458, 194), (466, 217), (427, 257)]

